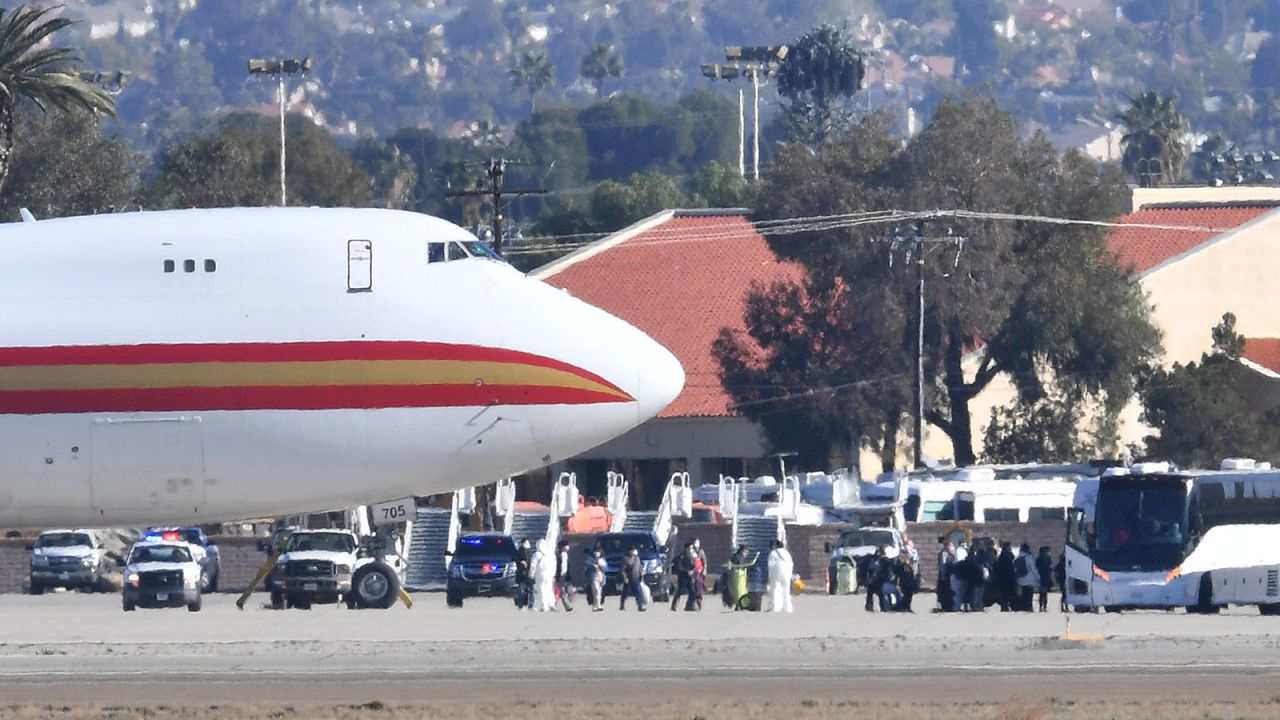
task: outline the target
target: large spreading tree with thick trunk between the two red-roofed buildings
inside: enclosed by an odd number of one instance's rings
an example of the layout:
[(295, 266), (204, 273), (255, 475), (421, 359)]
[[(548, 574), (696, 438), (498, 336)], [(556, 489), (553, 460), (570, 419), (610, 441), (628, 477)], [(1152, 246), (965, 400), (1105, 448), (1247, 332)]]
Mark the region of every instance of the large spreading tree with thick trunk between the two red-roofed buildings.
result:
[[(1116, 173), (1076, 152), (1059, 155), (1043, 137), (1024, 140), (992, 99), (943, 101), (901, 149), (878, 124), (864, 122), (812, 151), (783, 151), (760, 192), (760, 217), (968, 209), (1103, 219), (1121, 211)], [(980, 219), (923, 228), (927, 236), (948, 231), (968, 242), (959, 258), (952, 247), (925, 263), (925, 418), (948, 436), (955, 461), (975, 460), (970, 402), (1001, 375), (1028, 404), (1052, 392), (1119, 413), (1135, 368), (1158, 348), (1158, 332), (1101, 232)], [(902, 272), (901, 252), (890, 266), (891, 249), (879, 242), (890, 232), (854, 227), (769, 237), (810, 275), (838, 277), (850, 316), (868, 325), (858, 341), (845, 334), (831, 342), (856, 342), (850, 355), (877, 359), (847, 382), (876, 382), (878, 389), (895, 378), (909, 382), (902, 368), (911, 366), (915, 329), (914, 278)], [(795, 333), (803, 343), (801, 331)], [(768, 357), (756, 364), (768, 365)], [(869, 442), (870, 423), (858, 424)]]

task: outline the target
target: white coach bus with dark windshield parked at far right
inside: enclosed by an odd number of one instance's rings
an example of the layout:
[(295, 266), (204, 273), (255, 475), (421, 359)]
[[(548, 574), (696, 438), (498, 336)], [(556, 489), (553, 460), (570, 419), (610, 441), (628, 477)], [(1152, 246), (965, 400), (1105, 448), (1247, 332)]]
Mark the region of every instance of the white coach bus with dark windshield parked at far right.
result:
[(1111, 469), (1076, 486), (1066, 525), (1066, 602), (1078, 612), (1280, 610), (1280, 471), (1267, 464)]

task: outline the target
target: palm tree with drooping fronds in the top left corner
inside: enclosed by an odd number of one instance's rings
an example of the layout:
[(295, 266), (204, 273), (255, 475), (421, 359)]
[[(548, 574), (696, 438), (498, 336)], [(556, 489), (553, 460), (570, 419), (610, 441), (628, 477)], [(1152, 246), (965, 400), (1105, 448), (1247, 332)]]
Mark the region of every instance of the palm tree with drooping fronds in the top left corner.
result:
[(72, 47), (44, 46), (45, 40), (72, 24), (47, 17), (52, 8), (0, 8), (0, 188), (13, 156), (13, 111), (19, 99), (41, 110), (87, 110), (115, 114), (115, 100), (74, 70), (79, 56)]

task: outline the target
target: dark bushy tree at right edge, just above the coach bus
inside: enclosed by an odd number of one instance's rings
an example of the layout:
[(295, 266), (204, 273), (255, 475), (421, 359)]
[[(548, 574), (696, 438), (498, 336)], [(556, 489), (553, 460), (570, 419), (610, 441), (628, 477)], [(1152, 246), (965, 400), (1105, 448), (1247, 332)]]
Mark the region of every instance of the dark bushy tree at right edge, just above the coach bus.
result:
[(1146, 438), (1147, 455), (1189, 468), (1240, 456), (1280, 461), (1280, 409), (1252, 402), (1235, 315), (1222, 315), (1211, 334), (1213, 350), (1198, 364), (1153, 369), (1139, 384), (1143, 420), (1158, 433)]

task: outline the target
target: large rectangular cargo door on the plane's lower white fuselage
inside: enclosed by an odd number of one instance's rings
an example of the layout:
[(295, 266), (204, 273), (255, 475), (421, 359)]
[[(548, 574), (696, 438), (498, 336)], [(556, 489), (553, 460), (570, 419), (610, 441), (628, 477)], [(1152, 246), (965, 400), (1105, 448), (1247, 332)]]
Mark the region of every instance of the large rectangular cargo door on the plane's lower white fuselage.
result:
[(205, 503), (200, 418), (100, 419), (92, 443), (95, 509), (189, 514)]

